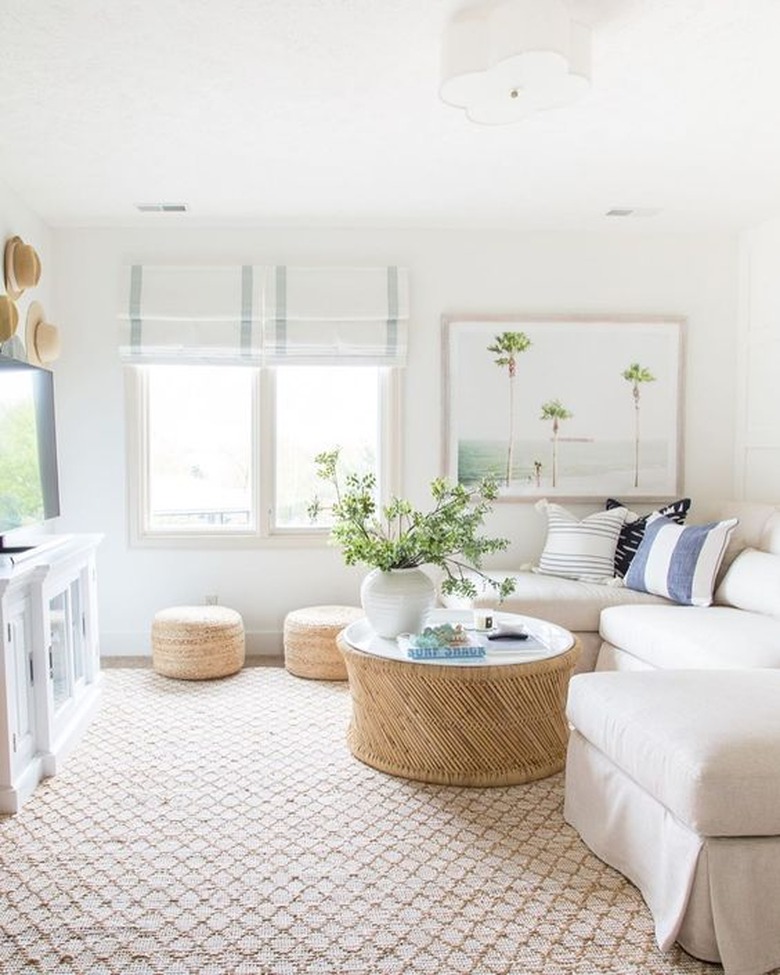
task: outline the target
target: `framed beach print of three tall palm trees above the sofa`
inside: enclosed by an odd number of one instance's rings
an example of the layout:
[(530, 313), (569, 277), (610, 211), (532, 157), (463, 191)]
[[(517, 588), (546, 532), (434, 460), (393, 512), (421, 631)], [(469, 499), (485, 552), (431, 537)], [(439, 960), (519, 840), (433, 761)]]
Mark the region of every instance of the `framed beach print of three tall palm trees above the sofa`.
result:
[(682, 480), (684, 320), (442, 320), (444, 471), (502, 500), (657, 501)]

